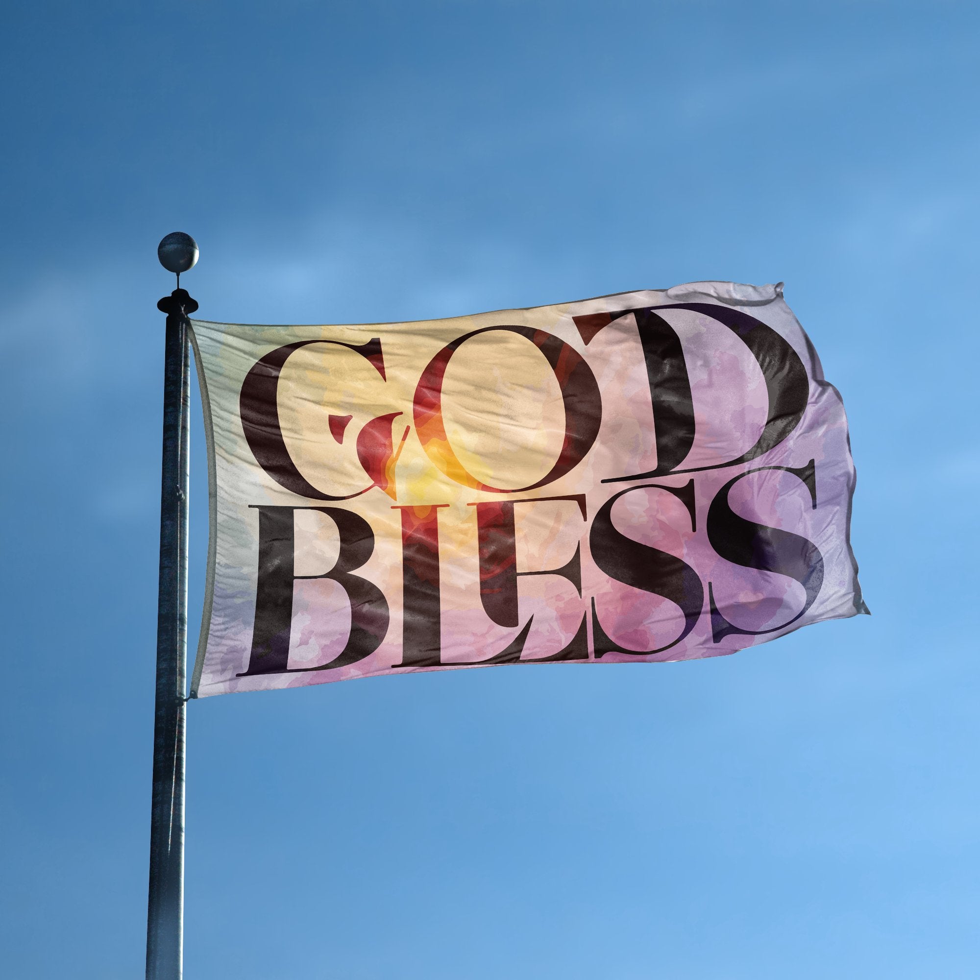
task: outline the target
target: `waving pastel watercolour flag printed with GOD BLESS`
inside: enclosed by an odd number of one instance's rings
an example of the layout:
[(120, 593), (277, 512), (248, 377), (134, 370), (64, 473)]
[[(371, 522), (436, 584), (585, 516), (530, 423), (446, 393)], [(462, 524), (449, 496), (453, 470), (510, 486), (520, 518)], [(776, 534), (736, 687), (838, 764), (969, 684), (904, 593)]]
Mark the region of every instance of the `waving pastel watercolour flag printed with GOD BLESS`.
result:
[(691, 660), (867, 612), (844, 405), (781, 284), (192, 342), (195, 696)]

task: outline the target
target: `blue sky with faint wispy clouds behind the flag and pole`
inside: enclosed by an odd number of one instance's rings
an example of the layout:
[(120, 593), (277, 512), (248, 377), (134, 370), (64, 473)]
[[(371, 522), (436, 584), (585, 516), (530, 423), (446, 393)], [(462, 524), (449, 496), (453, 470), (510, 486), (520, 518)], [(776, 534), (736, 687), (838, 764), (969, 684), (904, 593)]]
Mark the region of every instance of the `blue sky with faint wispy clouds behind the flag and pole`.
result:
[(977, 975), (980, 8), (4, 19), (9, 975), (143, 968), (174, 229), (206, 319), (785, 280), (851, 418), (873, 612), (717, 661), (190, 705), (188, 977)]

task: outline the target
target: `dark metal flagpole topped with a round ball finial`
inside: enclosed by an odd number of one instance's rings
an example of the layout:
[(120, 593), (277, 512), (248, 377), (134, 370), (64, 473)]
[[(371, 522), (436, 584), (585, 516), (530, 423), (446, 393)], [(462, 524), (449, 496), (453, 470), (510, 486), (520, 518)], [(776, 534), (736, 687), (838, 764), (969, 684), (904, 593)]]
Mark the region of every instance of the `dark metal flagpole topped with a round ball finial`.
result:
[(157, 600), (157, 698), (153, 730), (153, 815), (146, 930), (147, 980), (183, 974), (184, 733), (187, 675), (187, 493), (190, 433), (189, 314), (197, 303), (180, 273), (198, 256), (190, 235), (174, 231), (157, 250), (177, 288), (157, 307), (167, 314), (164, 356), (164, 452)]

